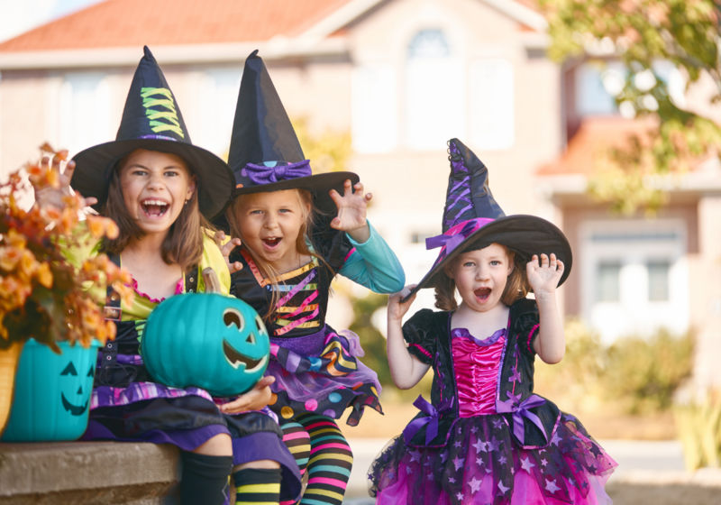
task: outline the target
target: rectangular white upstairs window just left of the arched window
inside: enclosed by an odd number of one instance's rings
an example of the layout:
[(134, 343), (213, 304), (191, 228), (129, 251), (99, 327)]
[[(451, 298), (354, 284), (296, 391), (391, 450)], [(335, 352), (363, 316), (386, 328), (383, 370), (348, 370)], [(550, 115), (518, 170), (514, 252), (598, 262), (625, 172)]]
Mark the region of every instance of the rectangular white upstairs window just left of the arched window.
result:
[(388, 64), (353, 70), (352, 138), (355, 152), (388, 152), (397, 145), (396, 71)]

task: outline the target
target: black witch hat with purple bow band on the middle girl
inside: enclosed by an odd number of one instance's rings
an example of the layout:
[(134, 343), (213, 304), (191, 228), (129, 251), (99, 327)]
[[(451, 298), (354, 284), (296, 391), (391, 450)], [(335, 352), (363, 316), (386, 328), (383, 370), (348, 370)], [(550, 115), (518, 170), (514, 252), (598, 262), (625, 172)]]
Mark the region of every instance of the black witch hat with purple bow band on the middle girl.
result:
[(311, 175), (293, 125), (287, 116), (268, 69), (254, 50), (245, 60), (241, 91), (235, 108), (228, 164), (235, 174), (233, 197), (249, 193), (306, 189), (324, 213), (337, 209), (328, 195), (343, 194), (343, 182), (359, 178), (352, 172)]

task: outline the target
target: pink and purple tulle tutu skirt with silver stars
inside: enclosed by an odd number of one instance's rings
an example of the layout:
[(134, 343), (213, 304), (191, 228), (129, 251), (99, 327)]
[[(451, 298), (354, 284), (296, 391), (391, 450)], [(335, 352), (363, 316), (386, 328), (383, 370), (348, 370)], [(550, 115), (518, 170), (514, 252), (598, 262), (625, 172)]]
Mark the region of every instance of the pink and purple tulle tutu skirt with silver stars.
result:
[(393, 439), (370, 467), (370, 494), (377, 505), (610, 505), (616, 465), (569, 414), (541, 449), (521, 448), (497, 414), (459, 418), (440, 449)]

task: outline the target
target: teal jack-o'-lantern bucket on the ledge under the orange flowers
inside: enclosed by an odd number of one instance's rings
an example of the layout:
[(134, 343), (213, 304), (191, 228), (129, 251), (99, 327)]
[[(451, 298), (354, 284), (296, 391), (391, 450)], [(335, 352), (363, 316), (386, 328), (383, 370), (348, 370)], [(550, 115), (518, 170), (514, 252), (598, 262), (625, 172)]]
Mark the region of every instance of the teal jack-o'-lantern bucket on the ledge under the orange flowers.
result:
[(100, 343), (58, 345), (61, 354), (34, 339), (24, 345), (3, 442), (57, 442), (85, 433)]

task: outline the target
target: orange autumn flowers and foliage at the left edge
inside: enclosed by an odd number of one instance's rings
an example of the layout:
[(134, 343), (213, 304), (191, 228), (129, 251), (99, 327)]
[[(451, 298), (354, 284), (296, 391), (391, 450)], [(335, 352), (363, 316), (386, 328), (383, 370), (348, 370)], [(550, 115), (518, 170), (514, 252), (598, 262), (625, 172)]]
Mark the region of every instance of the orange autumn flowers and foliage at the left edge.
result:
[(29, 189), (25, 173), (35, 188), (59, 188), (58, 166), (68, 152), (55, 152), (48, 144), (41, 152), (46, 160), (26, 164), (0, 184), (0, 349), (32, 337), (59, 353), (59, 340), (88, 347), (94, 338), (102, 343), (114, 339), (114, 323), (105, 320), (87, 288), (112, 285), (130, 304), (132, 279), (105, 254), (79, 268), (63, 255), (118, 235), (117, 225), (106, 217), (87, 215), (87, 226), (78, 225), (85, 207), (78, 194), (62, 197), (61, 208), (35, 203), (26, 212), (18, 207), (18, 197)]

